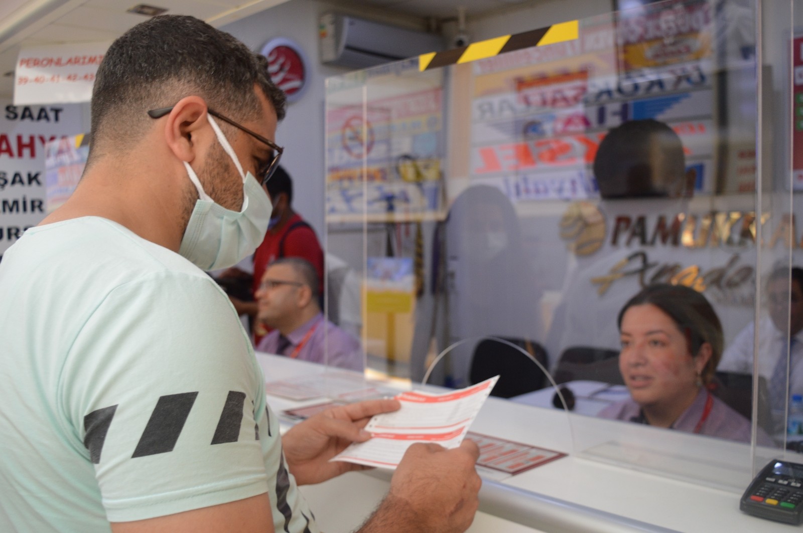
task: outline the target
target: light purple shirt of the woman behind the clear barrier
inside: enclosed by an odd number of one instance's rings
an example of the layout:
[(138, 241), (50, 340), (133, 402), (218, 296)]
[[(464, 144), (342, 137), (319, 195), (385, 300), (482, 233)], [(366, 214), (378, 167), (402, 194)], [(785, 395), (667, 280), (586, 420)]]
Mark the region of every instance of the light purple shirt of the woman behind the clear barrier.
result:
[[(705, 411), (705, 403), (708, 397), (708, 392), (705, 388), (700, 387), (694, 403), (686, 409), (683, 414), (678, 417), (671, 427), (679, 431), (687, 431), (694, 433), (695, 427), (703, 417)], [(711, 405), (711, 412), (708, 417), (703, 421), (703, 425), (699, 430), (700, 435), (707, 435), (709, 437), (727, 438), (732, 441), (750, 441), (750, 421), (739, 413), (736, 413), (728, 405), (719, 400), (718, 397), (713, 396), (713, 403)], [(638, 421), (641, 417), (642, 408), (633, 401), (632, 398), (618, 401), (615, 404), (608, 405), (602, 409), (597, 415), (601, 418), (613, 418), (616, 420)], [(758, 444), (762, 446), (775, 446), (772, 439), (764, 431), (758, 429)]]

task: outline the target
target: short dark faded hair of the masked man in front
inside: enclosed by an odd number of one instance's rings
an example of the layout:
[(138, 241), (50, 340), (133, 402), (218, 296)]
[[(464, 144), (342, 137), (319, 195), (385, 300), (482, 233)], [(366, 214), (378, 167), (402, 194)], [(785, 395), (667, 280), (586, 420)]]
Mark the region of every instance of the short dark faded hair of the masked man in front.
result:
[(271, 82), (267, 59), (198, 18), (161, 15), (116, 39), (98, 67), (92, 90), (92, 150), (124, 147), (145, 132), (150, 109), (201, 96), (232, 120), (253, 120), (261, 109), (257, 85), (284, 117), (285, 95)]

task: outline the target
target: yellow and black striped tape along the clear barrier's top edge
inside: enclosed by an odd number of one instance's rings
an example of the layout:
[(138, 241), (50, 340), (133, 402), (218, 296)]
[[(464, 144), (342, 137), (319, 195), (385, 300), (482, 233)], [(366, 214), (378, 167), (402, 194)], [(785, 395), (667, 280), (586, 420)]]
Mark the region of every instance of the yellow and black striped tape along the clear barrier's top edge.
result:
[(477, 59), (486, 59), (522, 48), (543, 47), (546, 44), (563, 43), (577, 39), (580, 33), (580, 22), (570, 20), (552, 24), (538, 30), (524, 31), (520, 34), (504, 35), (495, 39), (487, 39), (479, 43), (471, 43), (467, 47), (453, 48), (442, 52), (430, 52), (418, 56), (418, 70), (446, 67), (456, 63), (468, 63)]

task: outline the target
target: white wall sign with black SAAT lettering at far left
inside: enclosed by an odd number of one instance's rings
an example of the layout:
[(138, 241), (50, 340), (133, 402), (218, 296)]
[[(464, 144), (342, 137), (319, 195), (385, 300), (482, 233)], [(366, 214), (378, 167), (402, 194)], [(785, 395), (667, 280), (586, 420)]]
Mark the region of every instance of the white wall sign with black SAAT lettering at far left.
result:
[(81, 131), (80, 106), (0, 100), (0, 255), (47, 214), (47, 143)]

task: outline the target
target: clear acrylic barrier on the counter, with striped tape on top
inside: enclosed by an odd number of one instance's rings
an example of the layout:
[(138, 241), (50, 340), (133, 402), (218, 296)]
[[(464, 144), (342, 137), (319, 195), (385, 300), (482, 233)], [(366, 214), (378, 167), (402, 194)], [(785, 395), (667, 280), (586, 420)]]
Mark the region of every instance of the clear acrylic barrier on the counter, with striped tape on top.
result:
[(574, 453), (736, 490), (803, 441), (803, 10), (635, 3), (328, 79), (326, 309), (367, 376), (554, 380), (672, 428)]

